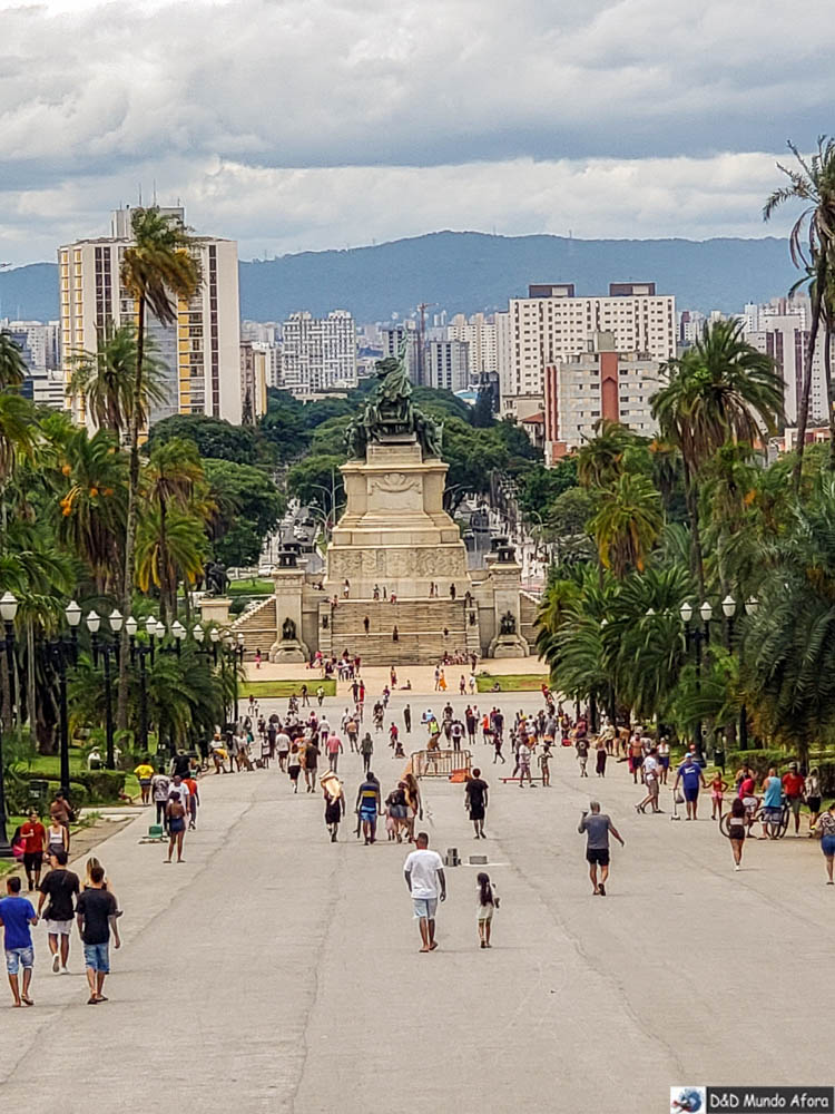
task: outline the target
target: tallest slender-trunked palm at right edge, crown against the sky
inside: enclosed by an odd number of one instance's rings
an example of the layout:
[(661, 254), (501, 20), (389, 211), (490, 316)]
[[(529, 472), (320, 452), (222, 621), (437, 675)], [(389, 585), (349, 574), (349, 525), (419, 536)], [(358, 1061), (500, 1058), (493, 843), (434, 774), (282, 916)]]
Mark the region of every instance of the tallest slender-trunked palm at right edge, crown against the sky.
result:
[(817, 152), (808, 159), (792, 141), (788, 148), (799, 168), (777, 164), (780, 173), (788, 178), (788, 185), (774, 190), (763, 208), (763, 217), (768, 221), (780, 205), (789, 201), (800, 201), (805, 206), (788, 237), (792, 262), (806, 272), (806, 277), (800, 280), (799, 285), (808, 283), (812, 300), (803, 389), (797, 410), (797, 459), (793, 476), (795, 491), (799, 491), (812, 392), (812, 363), (823, 316), (827, 272), (835, 265), (835, 139), (821, 136)]

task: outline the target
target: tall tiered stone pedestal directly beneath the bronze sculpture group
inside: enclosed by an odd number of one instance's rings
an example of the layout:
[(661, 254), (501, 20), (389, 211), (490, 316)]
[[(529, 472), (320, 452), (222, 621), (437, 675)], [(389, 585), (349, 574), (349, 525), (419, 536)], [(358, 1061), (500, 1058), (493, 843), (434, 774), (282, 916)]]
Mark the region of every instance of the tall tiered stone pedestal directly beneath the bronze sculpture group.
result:
[(371, 598), (374, 586), (389, 597), (429, 596), (432, 583), (446, 596), (469, 588), (466, 549), (443, 509), (448, 466), (423, 459), (414, 437), (369, 446), (366, 460), (342, 466), (345, 512), (327, 548), (326, 589), (342, 599)]

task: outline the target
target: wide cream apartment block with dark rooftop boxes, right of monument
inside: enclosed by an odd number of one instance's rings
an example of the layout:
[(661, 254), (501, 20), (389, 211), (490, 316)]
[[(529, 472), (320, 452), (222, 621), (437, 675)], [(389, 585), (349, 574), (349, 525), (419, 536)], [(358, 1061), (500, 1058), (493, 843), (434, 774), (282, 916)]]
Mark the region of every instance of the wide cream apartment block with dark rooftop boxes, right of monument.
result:
[(573, 283), (537, 283), (528, 297), (511, 299), (507, 328), (498, 343), (502, 413), (541, 399), (546, 368), (587, 351), (596, 333), (612, 333), (620, 352), (676, 355), (676, 300), (652, 282), (611, 283), (608, 296), (593, 297), (578, 296)]

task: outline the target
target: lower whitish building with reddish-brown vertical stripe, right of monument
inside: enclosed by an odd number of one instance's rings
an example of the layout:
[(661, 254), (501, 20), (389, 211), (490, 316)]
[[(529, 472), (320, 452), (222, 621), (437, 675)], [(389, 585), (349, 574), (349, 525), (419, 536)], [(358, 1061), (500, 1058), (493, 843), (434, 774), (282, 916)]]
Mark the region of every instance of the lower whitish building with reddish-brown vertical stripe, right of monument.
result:
[(619, 351), (611, 332), (597, 332), (584, 352), (546, 368), (546, 460), (553, 462), (595, 436), (601, 419), (636, 433), (657, 432), (650, 399), (661, 387), (661, 361)]

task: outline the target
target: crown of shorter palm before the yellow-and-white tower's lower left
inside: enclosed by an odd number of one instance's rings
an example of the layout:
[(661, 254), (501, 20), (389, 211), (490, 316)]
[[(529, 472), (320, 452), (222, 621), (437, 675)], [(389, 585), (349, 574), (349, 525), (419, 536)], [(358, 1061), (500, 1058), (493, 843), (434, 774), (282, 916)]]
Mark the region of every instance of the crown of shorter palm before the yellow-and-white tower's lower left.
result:
[[(71, 358), (70, 394), (81, 394), (99, 429), (110, 430), (121, 440), (130, 424), (135, 402), (137, 331), (132, 324), (114, 328), (108, 323), (95, 352)], [(160, 367), (144, 345), (143, 387), (139, 394), (139, 428), (147, 422), (148, 405), (165, 402)]]

